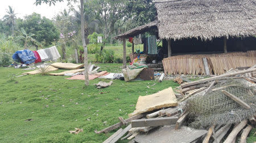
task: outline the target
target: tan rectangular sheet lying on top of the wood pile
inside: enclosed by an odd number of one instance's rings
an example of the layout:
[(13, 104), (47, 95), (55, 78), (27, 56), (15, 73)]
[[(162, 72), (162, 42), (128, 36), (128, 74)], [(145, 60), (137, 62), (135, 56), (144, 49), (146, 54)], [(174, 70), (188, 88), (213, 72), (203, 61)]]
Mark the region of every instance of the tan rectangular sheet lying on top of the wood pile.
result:
[(178, 103), (174, 91), (170, 87), (149, 96), (139, 96), (136, 110), (129, 114), (129, 117), (148, 111), (162, 109), (165, 107), (174, 107), (177, 105)]

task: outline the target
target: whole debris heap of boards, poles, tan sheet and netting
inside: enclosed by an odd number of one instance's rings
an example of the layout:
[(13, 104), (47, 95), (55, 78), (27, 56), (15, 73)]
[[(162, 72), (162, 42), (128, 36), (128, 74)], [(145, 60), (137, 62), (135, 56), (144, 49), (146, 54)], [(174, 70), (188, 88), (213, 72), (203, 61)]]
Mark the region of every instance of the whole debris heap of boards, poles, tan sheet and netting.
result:
[[(255, 67), (242, 71), (230, 70), (220, 76), (197, 81), (180, 77), (188, 83), (176, 89), (179, 104), (175, 107), (160, 102), (160, 98), (156, 98), (160, 96), (155, 96), (155, 99), (139, 97), (136, 110), (129, 114), (129, 119), (119, 117), (119, 123), (95, 132), (107, 133), (127, 125), (104, 142), (127, 139), (130, 142), (225, 143), (236, 141), (238, 133), (242, 132), (240, 141), (246, 142), (247, 135), (256, 123)], [(143, 106), (141, 103), (144, 103)], [(154, 108), (147, 110), (147, 105)]]

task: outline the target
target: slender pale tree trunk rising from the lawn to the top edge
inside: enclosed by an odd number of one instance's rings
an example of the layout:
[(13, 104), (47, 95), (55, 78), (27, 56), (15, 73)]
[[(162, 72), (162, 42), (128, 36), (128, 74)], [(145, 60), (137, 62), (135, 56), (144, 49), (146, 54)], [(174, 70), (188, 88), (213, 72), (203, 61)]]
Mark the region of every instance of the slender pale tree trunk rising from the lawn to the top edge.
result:
[(84, 77), (85, 77), (85, 85), (89, 85), (89, 77), (88, 77), (88, 49), (85, 42), (84, 35), (84, 0), (80, 0), (80, 14), (81, 14), (81, 36), (82, 36), (82, 46), (84, 47)]

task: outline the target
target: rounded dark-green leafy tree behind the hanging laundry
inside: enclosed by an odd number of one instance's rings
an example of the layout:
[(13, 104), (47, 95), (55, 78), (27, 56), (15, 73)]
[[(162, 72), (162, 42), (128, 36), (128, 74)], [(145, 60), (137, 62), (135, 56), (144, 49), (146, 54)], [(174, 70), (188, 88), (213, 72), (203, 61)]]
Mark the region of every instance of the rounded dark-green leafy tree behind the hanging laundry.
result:
[(60, 32), (53, 22), (46, 17), (41, 17), (35, 12), (24, 18), (23, 23), (19, 23), (19, 28), (23, 28), (27, 33), (34, 33), (35, 40), (42, 42), (45, 46), (51, 45), (53, 41), (59, 40)]

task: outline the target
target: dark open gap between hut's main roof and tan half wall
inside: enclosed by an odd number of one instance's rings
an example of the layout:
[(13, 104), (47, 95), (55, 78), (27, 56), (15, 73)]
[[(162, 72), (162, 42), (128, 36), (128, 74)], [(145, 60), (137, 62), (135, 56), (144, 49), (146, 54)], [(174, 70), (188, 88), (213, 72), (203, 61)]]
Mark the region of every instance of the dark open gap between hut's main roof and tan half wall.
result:
[[(167, 40), (163, 40), (164, 54), (168, 54)], [(214, 38), (212, 41), (201, 41), (196, 38), (171, 41), (172, 55), (179, 54), (214, 54), (224, 52), (223, 38)], [(256, 38), (231, 38), (227, 40), (227, 50), (248, 51), (256, 50)]]

